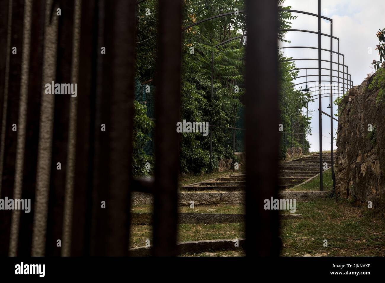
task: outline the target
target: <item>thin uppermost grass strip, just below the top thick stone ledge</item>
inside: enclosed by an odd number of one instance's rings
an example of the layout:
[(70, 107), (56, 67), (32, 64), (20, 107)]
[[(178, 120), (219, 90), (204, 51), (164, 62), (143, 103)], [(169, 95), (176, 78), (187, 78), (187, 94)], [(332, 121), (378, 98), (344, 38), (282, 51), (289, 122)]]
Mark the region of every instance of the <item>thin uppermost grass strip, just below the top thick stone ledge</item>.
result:
[[(144, 204), (133, 206), (132, 213), (149, 213), (152, 212), (152, 204)], [(180, 206), (179, 213), (221, 213), (221, 214), (243, 214), (244, 206), (242, 204), (213, 204), (213, 205), (195, 205)]]

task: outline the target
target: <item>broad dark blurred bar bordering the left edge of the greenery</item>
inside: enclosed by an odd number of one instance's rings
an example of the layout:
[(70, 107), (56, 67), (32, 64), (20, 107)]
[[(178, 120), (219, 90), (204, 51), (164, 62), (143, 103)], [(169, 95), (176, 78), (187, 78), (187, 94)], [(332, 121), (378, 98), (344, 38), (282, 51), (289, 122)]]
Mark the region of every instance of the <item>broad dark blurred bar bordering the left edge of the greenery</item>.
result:
[[(99, 2), (92, 256), (127, 256), (130, 239), (136, 1)], [(94, 27), (95, 28), (95, 27)], [(180, 26), (179, 26), (180, 28)], [(101, 54), (100, 47), (105, 47)], [(91, 121), (92, 122), (92, 121)], [(96, 138), (97, 137), (97, 138)], [(105, 202), (105, 208), (102, 207)]]

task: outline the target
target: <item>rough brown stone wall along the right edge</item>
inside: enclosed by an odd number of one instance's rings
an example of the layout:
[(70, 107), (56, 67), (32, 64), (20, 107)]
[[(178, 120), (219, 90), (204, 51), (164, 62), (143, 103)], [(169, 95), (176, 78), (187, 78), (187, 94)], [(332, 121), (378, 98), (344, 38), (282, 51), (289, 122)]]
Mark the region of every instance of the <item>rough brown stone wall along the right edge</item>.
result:
[[(336, 150), (336, 192), (357, 206), (385, 216), (385, 103), (376, 105), (378, 88), (368, 86), (373, 75), (353, 87), (340, 104)], [(368, 124), (376, 126), (371, 139)]]

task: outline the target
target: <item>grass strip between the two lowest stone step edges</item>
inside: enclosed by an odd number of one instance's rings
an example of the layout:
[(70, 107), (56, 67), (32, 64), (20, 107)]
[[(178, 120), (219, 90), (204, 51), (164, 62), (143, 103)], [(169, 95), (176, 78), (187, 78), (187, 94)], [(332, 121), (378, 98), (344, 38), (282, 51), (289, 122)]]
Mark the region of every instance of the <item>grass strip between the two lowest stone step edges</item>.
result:
[[(178, 241), (201, 241), (216, 239), (238, 239), (244, 238), (243, 223), (223, 224), (179, 224)], [(151, 225), (131, 225), (132, 247), (145, 246), (146, 240), (152, 244)]]

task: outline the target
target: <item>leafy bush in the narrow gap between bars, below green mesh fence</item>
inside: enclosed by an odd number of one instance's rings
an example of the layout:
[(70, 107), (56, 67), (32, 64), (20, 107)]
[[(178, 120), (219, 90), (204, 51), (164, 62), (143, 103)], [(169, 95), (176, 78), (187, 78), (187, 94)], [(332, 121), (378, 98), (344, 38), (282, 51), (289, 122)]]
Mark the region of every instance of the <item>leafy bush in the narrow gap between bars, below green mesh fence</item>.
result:
[[(154, 158), (146, 155), (143, 148), (146, 142), (151, 140), (149, 134), (154, 126), (154, 122), (147, 117), (146, 105), (141, 105), (134, 100), (134, 139), (132, 142), (132, 174), (134, 176), (145, 176), (152, 173), (152, 169), (154, 168)], [(145, 167), (146, 162), (150, 163), (149, 172)]]

